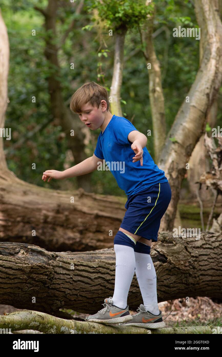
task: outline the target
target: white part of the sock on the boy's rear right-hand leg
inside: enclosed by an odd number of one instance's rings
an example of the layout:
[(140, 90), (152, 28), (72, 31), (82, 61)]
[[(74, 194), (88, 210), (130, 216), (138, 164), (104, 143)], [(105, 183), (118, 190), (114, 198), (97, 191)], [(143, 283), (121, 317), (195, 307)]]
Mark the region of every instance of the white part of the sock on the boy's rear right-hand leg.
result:
[(156, 292), (156, 271), (150, 254), (135, 253), (136, 278), (139, 283), (143, 305), (146, 310), (154, 315), (159, 314), (157, 292)]

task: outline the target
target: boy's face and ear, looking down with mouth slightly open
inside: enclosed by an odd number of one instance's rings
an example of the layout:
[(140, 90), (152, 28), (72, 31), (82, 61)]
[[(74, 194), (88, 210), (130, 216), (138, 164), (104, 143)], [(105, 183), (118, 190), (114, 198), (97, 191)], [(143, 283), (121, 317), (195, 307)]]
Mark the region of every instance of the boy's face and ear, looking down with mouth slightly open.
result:
[(98, 129), (104, 121), (106, 111), (106, 101), (102, 100), (99, 108), (92, 106), (89, 102), (84, 104), (81, 108), (81, 113), (77, 113), (81, 121), (90, 129)]

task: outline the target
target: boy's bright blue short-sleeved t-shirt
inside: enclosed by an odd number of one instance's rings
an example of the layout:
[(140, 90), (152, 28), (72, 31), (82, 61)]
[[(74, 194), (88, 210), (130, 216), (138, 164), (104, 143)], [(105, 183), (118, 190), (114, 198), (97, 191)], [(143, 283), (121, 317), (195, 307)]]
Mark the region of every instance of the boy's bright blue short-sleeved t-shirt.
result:
[[(155, 165), (149, 151), (143, 148), (143, 166), (133, 162), (135, 152), (128, 140), (135, 126), (122, 116), (113, 115), (105, 130), (100, 132), (94, 154), (103, 160), (97, 169), (110, 170), (126, 195), (144, 191), (155, 183), (168, 182), (165, 172)], [(138, 131), (138, 130), (137, 130)]]

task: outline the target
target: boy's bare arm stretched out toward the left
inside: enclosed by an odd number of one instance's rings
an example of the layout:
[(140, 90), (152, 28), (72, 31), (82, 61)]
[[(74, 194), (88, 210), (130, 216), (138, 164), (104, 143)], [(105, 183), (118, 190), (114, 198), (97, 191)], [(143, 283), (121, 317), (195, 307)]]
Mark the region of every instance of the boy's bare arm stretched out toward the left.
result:
[(102, 162), (102, 159), (99, 157), (93, 156), (88, 157), (86, 160), (79, 162), (79, 164), (70, 167), (64, 171), (56, 171), (56, 170), (46, 170), (43, 173), (42, 180), (46, 181), (49, 177), (48, 182), (52, 180), (52, 178), (63, 180), (64, 178), (70, 178), (74, 176), (86, 175), (89, 172), (95, 171), (97, 169), (97, 163)]

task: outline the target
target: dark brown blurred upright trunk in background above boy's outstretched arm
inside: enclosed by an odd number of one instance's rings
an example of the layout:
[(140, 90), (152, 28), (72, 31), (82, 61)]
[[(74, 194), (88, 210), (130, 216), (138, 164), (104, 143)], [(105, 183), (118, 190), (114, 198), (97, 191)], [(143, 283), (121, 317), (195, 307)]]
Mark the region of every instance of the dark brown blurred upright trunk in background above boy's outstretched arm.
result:
[[(53, 120), (58, 120), (60, 122), (62, 130), (66, 134), (68, 148), (72, 150), (74, 162), (77, 165), (79, 162), (87, 159), (88, 156), (85, 153), (85, 134), (82, 123), (78, 116), (72, 115), (71, 111), (66, 107), (62, 97), (58, 45), (55, 44), (55, 39), (58, 37), (56, 32), (58, 0), (48, 0), (48, 6), (43, 11), (37, 6), (34, 6), (34, 9), (40, 11), (45, 17), (44, 25), (47, 32), (45, 40), (45, 56), (50, 64), (50, 75), (47, 77), (47, 80)], [(71, 136), (71, 130), (74, 130), (74, 136)], [(47, 170), (47, 168), (45, 168), (45, 170)], [(76, 178), (79, 187), (84, 188), (86, 192), (92, 192), (90, 183), (91, 173), (77, 176)]]

